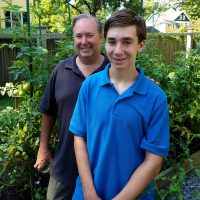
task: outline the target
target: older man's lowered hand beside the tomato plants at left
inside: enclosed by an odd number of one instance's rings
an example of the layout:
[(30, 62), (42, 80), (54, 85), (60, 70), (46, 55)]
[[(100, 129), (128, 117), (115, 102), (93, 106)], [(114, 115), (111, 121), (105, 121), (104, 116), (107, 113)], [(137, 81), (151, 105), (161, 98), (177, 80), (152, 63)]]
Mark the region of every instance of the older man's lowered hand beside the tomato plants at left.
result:
[(53, 158), (51, 156), (50, 150), (39, 148), (38, 154), (37, 154), (37, 160), (34, 165), (34, 168), (40, 171), (45, 165), (52, 162), (53, 162)]

